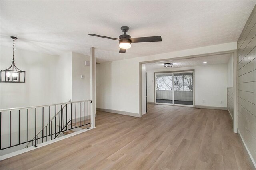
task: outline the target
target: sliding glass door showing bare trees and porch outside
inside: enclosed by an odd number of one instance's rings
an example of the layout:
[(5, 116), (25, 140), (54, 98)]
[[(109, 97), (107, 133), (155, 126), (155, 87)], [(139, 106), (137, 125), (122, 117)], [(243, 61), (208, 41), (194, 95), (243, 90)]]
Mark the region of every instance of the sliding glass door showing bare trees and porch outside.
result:
[(193, 72), (156, 73), (157, 104), (193, 106)]

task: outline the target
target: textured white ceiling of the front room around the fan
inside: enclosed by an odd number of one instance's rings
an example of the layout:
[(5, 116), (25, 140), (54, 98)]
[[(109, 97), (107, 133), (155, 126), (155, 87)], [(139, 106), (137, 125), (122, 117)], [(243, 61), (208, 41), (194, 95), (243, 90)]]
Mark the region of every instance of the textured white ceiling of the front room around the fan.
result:
[[(255, 1), (3, 1), (1, 44), (59, 55), (74, 51), (99, 62), (191, 49), (238, 40)], [(162, 36), (162, 42), (134, 43), (119, 54), (120, 27), (132, 37)]]

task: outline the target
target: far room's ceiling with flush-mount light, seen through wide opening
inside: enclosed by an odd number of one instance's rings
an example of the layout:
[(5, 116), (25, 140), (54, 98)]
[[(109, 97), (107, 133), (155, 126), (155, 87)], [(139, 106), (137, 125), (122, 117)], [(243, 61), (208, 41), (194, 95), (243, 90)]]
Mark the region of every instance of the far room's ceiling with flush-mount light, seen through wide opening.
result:
[[(190, 59), (146, 63), (145, 65), (146, 65), (146, 70), (154, 70), (154, 69), (164, 69), (165, 68), (164, 63), (173, 63), (173, 68), (223, 64), (223, 63), (228, 63), (228, 60), (230, 59), (231, 56), (232, 54), (222, 54), (222, 55), (214, 55), (214, 56), (206, 56), (206, 57), (196, 57), (196, 58), (190, 58)], [(203, 62), (207, 62), (207, 63), (203, 63)]]

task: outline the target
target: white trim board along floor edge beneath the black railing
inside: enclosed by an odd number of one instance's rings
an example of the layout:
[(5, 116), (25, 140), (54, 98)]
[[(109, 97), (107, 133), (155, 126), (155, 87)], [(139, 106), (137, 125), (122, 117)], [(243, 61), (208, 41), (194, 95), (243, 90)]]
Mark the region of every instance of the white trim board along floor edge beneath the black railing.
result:
[[(95, 128), (95, 127), (94, 127)], [(7, 158), (10, 158), (12, 156), (16, 156), (16, 155), (19, 155), (19, 154), (23, 154), (25, 152), (29, 152), (31, 150), (35, 150), (35, 149), (38, 149), (38, 148), (41, 148), (43, 146), (46, 146), (48, 144), (52, 144), (52, 143), (55, 143), (55, 142), (58, 142), (60, 140), (63, 140), (63, 139), (66, 139), (66, 138), (70, 138), (71, 136), (75, 136), (77, 134), (80, 134), (80, 133), (83, 133), (83, 132), (86, 132), (88, 130), (91, 130), (93, 129), (92, 127), (89, 128), (89, 129), (83, 129), (83, 130), (80, 130), (78, 132), (74, 132), (74, 133), (71, 133), (71, 134), (68, 134), (68, 135), (65, 135), (65, 136), (61, 136), (59, 138), (56, 138), (56, 139), (53, 139), (53, 140), (49, 140), (47, 142), (44, 142), (44, 143), (41, 143), (41, 144), (38, 144), (37, 147), (34, 147), (34, 146), (31, 146), (29, 148), (25, 148), (25, 149), (22, 149), (22, 150), (18, 150), (18, 151), (15, 151), (15, 152), (12, 152), (10, 154), (5, 154), (3, 156), (0, 156), (0, 160), (4, 160), (4, 159), (7, 159)]]

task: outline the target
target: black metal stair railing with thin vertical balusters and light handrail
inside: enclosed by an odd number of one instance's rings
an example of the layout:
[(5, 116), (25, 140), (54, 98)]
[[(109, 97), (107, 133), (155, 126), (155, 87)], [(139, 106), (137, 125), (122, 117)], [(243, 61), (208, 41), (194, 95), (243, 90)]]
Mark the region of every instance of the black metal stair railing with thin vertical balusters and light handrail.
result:
[[(0, 150), (37, 146), (62, 132), (87, 126), (92, 100), (0, 110)], [(18, 148), (17, 148), (18, 147)]]

